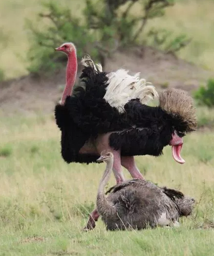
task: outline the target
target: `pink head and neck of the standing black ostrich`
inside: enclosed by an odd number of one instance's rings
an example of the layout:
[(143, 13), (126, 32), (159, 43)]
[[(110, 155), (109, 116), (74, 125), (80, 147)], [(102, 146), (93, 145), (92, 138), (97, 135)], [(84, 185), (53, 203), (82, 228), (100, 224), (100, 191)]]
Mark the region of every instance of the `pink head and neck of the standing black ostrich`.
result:
[(61, 99), (61, 104), (64, 104), (66, 97), (72, 93), (77, 76), (76, 47), (72, 43), (64, 43), (60, 47), (55, 48), (55, 50), (64, 52), (68, 58), (66, 67), (66, 85)]

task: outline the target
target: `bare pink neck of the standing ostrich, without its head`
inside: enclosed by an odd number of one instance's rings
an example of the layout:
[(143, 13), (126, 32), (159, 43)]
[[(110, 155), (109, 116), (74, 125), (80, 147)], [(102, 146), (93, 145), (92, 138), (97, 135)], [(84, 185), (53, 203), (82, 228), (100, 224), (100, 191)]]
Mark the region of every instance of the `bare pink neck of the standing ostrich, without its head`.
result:
[(68, 95), (71, 95), (74, 83), (77, 76), (77, 54), (76, 50), (73, 49), (69, 54), (67, 54), (67, 67), (66, 67), (66, 85), (64, 88), (61, 103), (64, 101)]

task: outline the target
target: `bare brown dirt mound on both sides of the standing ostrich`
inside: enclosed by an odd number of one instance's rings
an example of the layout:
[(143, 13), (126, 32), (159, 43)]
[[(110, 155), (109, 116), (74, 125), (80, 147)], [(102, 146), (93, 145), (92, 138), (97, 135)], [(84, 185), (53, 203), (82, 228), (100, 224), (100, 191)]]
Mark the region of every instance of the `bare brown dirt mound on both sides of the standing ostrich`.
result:
[[(81, 70), (81, 67), (79, 67)], [(196, 89), (214, 72), (203, 70), (183, 60), (164, 54), (151, 47), (133, 47), (116, 52), (107, 60), (106, 70), (124, 68), (141, 72), (141, 76), (159, 88), (176, 87), (187, 91)], [(0, 109), (3, 113), (53, 113), (62, 95), (65, 69), (51, 77), (23, 76), (0, 83)]]

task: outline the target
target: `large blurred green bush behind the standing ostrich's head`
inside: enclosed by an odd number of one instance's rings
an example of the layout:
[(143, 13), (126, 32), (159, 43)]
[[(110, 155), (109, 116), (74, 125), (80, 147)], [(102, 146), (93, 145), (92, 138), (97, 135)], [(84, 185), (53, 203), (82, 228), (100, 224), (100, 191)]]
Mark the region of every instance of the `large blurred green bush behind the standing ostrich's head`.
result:
[[(164, 44), (165, 48), (162, 48), (166, 52), (178, 51), (189, 42), (185, 35), (167, 40), (171, 37), (171, 32), (152, 28), (142, 36), (148, 21), (163, 16), (165, 8), (174, 2), (175, 0), (86, 0), (81, 18), (74, 17), (71, 10), (67, 6), (62, 7), (58, 1), (43, 3), (46, 13), (38, 15), (39, 23), (27, 21), (31, 31), (28, 70), (33, 73), (56, 70), (66, 57), (55, 54), (54, 48), (64, 42), (73, 42), (78, 46), (79, 58), (89, 53), (104, 67), (106, 58), (120, 47), (151, 44), (161, 48)], [(139, 15), (133, 13), (134, 5), (141, 8)], [(46, 23), (43, 30), (40, 29), (40, 22)]]

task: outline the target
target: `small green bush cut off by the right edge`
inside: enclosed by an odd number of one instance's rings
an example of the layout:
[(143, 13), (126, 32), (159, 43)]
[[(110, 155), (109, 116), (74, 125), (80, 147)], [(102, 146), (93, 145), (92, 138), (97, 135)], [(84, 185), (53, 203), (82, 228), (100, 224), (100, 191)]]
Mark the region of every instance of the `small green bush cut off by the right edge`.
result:
[(199, 104), (214, 107), (214, 79), (209, 79), (206, 87), (201, 86), (194, 97)]

